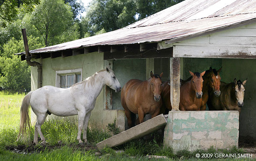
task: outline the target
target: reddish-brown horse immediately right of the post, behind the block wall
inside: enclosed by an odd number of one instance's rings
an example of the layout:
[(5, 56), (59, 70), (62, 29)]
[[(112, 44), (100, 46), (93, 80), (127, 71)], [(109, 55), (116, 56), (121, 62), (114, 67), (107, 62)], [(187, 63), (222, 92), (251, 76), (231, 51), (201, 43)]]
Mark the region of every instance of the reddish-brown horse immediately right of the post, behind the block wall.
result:
[(205, 71), (202, 73), (193, 73), (189, 71), (192, 78), (180, 87), (179, 110), (181, 111), (199, 111), (202, 105), (202, 86)]

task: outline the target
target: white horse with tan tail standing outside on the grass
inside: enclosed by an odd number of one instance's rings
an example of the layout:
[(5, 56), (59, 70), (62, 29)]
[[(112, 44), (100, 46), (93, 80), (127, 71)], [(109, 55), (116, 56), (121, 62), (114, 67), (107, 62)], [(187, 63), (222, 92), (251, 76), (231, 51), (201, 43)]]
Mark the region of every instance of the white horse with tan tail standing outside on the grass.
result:
[(113, 70), (106, 68), (100, 70), (94, 75), (88, 77), (82, 82), (74, 84), (70, 88), (57, 88), (53, 86), (44, 86), (36, 91), (29, 92), (23, 99), (20, 108), (20, 133), (26, 135), (27, 128), (30, 128), (29, 105), (36, 114), (35, 135), (33, 143), (38, 144), (38, 133), (43, 145), (46, 145), (45, 138), (41, 131), (41, 125), (44, 123), (48, 114), (56, 116), (78, 115), (78, 133), (77, 140), (81, 140), (82, 128), (84, 128), (83, 140), (87, 143), (87, 125), (93, 110), (96, 98), (99, 96), (103, 86), (107, 85), (115, 92), (121, 91), (120, 83)]

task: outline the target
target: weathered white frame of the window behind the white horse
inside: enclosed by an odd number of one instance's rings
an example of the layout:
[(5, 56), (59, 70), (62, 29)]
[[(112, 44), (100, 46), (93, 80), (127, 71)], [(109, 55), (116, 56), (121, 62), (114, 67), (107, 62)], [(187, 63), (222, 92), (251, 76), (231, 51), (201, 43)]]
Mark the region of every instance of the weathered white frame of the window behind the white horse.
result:
[[(67, 75), (72, 75), (72, 74), (77, 74), (80, 73), (81, 74), (81, 80), (82, 81), (82, 68), (79, 69), (69, 69), (69, 70), (56, 70), (56, 83), (55, 86), (61, 88), (61, 75), (66, 75), (66, 87), (67, 87)], [(75, 75), (74, 75), (75, 77)], [(75, 80), (76, 78), (74, 78)]]

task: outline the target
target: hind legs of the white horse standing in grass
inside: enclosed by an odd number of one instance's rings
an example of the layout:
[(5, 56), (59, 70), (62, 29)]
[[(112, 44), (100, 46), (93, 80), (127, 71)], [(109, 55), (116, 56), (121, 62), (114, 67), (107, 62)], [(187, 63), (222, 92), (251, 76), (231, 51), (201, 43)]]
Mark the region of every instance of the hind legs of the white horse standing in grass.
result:
[(38, 133), (39, 133), (42, 144), (46, 145), (44, 135), (41, 131), (41, 126), (44, 123), (47, 115), (48, 115), (48, 113), (45, 113), (45, 114), (42, 114), (42, 115), (39, 115), (39, 116), (36, 117), (37, 121), (36, 121), (36, 125), (35, 125), (35, 135), (34, 135), (34, 143), (35, 144), (38, 144), (37, 137), (38, 137)]

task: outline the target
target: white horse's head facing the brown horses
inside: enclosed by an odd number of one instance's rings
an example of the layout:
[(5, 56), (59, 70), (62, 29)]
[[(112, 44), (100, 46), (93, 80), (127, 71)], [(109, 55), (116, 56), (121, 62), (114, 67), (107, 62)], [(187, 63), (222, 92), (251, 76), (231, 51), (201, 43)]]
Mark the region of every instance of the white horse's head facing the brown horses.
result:
[(117, 78), (115, 78), (115, 74), (113, 70), (106, 68), (107, 75), (105, 76), (106, 85), (111, 89), (115, 90), (116, 93), (121, 91), (121, 85)]

